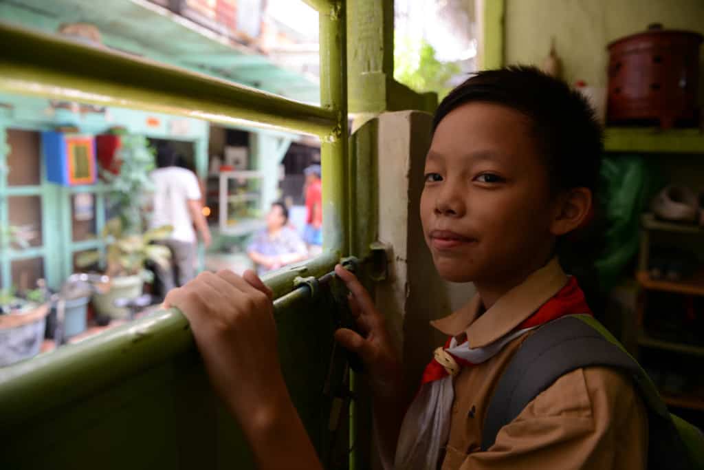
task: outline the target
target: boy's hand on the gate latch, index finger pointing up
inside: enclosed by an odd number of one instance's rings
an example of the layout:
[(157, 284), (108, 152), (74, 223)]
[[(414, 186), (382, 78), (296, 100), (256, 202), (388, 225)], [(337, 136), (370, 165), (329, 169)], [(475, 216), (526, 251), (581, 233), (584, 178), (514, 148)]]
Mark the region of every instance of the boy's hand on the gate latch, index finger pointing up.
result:
[(386, 321), (353, 273), (339, 264), (335, 266), (335, 273), (350, 291), (350, 310), (361, 333), (340, 328), (335, 332), (335, 339), (362, 359), (369, 371), (375, 397), (396, 399), (403, 389), (403, 372), (398, 353), (386, 330)]

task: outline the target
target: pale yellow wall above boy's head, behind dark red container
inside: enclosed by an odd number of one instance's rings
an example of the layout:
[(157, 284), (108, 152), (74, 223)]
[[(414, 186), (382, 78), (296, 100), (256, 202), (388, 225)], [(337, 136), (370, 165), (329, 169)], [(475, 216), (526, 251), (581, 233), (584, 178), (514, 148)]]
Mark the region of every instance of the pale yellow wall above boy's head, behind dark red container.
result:
[[(568, 83), (584, 80), (605, 87), (607, 44), (646, 30), (650, 23), (704, 34), (704, 2), (506, 0), (504, 61), (539, 64), (548, 55), (554, 38)], [(704, 70), (704, 64), (700, 70)], [(700, 74), (700, 82), (703, 89), (704, 74)]]

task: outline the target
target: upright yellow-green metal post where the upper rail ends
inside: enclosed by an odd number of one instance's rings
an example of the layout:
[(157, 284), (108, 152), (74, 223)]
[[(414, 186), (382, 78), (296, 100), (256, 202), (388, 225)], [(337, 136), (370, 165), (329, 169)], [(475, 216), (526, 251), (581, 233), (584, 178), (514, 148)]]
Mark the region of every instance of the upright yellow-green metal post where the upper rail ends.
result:
[(347, 173), (347, 49), (345, 2), (320, 12), (320, 105), (337, 116), (333, 132), (320, 143), (323, 249), (349, 252)]

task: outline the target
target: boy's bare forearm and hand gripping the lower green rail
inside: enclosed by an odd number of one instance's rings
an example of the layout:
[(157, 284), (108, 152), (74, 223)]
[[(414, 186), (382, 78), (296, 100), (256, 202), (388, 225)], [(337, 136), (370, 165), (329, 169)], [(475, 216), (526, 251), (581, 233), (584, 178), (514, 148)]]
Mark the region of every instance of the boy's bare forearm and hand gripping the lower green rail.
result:
[(187, 316), (215, 392), (244, 431), (259, 469), (321, 469), (279, 365), (272, 293), (252, 271), (204, 272), (170, 291)]

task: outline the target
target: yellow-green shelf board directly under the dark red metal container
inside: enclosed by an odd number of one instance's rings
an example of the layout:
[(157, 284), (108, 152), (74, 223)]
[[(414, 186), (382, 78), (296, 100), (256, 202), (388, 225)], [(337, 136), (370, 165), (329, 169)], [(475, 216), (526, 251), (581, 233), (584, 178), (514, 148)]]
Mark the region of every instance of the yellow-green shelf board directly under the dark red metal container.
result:
[(704, 154), (704, 132), (699, 129), (606, 128), (606, 151), (665, 154)]

